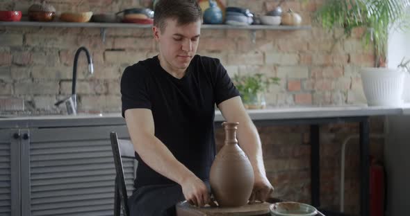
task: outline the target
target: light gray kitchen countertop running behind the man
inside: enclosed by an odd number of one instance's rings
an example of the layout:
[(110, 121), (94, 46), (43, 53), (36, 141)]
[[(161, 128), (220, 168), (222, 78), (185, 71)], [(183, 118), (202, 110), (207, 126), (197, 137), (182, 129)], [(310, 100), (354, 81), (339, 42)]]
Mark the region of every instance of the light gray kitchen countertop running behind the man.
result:
[[(337, 118), (353, 116), (385, 116), (410, 114), (410, 104), (402, 107), (326, 106), (326, 107), (278, 107), (247, 111), (252, 120)], [(215, 111), (215, 121), (223, 121), (220, 111)], [(13, 127), (65, 127), (67, 125), (124, 125), (120, 113), (17, 116), (0, 118), (0, 128)]]

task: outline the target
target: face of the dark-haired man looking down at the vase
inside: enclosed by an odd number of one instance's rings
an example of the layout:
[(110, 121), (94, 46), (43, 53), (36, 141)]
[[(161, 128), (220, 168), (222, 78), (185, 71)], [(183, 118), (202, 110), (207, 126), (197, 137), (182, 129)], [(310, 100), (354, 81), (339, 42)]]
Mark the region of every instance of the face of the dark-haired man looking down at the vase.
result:
[(201, 21), (179, 26), (177, 19), (166, 19), (161, 31), (154, 26), (154, 38), (159, 44), (160, 55), (167, 69), (185, 70), (197, 52)]

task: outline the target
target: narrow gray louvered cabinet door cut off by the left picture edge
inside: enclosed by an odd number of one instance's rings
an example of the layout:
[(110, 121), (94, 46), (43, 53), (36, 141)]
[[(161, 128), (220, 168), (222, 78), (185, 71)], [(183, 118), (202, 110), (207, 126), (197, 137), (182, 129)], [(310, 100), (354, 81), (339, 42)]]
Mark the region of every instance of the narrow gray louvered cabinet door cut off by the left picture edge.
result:
[(19, 129), (0, 129), (0, 215), (21, 215), (19, 141)]

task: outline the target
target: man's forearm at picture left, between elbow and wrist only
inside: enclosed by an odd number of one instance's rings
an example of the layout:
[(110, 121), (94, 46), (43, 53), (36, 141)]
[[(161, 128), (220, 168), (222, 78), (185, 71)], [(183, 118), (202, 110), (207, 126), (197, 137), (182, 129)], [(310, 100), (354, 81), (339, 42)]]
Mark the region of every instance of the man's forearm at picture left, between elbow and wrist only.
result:
[(147, 135), (142, 138), (140, 145), (136, 145), (136, 149), (141, 159), (150, 168), (172, 181), (181, 184), (186, 178), (194, 175), (155, 136)]

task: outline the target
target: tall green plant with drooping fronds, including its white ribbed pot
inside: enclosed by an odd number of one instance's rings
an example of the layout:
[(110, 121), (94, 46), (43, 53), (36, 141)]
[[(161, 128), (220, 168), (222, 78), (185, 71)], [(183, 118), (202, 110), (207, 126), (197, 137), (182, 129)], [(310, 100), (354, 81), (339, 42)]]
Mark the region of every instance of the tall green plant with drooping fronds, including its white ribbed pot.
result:
[(408, 29), (409, 6), (409, 0), (326, 0), (316, 12), (315, 17), (323, 28), (341, 27), (343, 36), (350, 37), (354, 28), (365, 29), (363, 44), (372, 44), (375, 51), (375, 67), (361, 69), (368, 105), (402, 103), (404, 73), (385, 68), (386, 46), (391, 30)]

